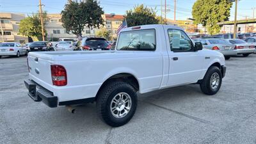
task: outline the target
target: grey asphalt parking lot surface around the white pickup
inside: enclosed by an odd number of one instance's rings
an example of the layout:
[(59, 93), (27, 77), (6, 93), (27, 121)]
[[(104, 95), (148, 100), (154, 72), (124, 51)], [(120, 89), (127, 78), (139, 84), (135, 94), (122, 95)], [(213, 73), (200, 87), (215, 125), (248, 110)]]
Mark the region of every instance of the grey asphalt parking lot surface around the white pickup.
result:
[(226, 61), (216, 95), (186, 85), (139, 95), (132, 120), (100, 121), (95, 104), (48, 108), (27, 95), (26, 56), (0, 59), (0, 143), (256, 143), (256, 54)]

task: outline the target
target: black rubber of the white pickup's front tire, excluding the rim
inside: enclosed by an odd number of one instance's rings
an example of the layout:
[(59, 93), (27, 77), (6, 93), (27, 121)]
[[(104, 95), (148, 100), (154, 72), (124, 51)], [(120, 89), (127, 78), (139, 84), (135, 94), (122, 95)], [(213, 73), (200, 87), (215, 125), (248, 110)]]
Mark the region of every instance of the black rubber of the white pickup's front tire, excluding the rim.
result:
[[(211, 86), (211, 77), (214, 74), (217, 74), (219, 76), (219, 83), (216, 88), (212, 88)], [(222, 75), (221, 75), (220, 68), (212, 66), (208, 68), (204, 76), (204, 79), (202, 80), (202, 83), (200, 83), (200, 89), (206, 95), (214, 95), (220, 90), (221, 83), (222, 83)]]

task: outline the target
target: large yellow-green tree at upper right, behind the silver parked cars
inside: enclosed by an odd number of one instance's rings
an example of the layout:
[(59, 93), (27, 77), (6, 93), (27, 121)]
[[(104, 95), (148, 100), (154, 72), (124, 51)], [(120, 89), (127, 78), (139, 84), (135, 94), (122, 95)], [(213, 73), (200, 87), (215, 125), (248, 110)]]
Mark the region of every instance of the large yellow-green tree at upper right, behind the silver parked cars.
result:
[(220, 32), (218, 22), (227, 21), (230, 16), (230, 0), (197, 0), (193, 5), (192, 15), (195, 24), (202, 24), (209, 34)]

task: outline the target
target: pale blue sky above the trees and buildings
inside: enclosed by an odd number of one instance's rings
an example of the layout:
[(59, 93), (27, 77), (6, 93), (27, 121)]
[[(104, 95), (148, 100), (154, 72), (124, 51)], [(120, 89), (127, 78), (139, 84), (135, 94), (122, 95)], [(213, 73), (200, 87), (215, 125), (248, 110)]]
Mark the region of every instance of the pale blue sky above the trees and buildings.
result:
[[(31, 13), (38, 12), (39, 0), (0, 0), (0, 12), (13, 12), (13, 13), (25, 13), (29, 15)], [(60, 13), (63, 10), (67, 0), (41, 0), (44, 4), (43, 10), (47, 13)], [(131, 10), (136, 4), (145, 4), (145, 6), (156, 8), (157, 15), (161, 15), (161, 1), (165, 0), (98, 0), (100, 6), (103, 8), (105, 13), (115, 13), (124, 15), (126, 10)], [(196, 0), (176, 0), (176, 20), (186, 20), (192, 18), (191, 10), (193, 3)], [(211, 0), (210, 0), (211, 1)], [(168, 19), (173, 19), (173, 7), (174, 0), (166, 0), (167, 9), (170, 12), (167, 13)], [(234, 6), (230, 11), (230, 20), (234, 20)], [(237, 6), (237, 19), (248, 19), (253, 17), (253, 10), (255, 8), (256, 18), (256, 0), (241, 0)]]

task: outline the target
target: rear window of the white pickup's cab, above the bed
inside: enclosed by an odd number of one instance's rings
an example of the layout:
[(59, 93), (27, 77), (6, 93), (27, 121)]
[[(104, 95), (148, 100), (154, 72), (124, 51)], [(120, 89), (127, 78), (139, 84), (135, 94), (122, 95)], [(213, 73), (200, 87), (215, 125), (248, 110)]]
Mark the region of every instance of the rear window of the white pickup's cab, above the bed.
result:
[(122, 32), (118, 38), (116, 49), (120, 51), (155, 51), (156, 31), (155, 29), (143, 29)]

